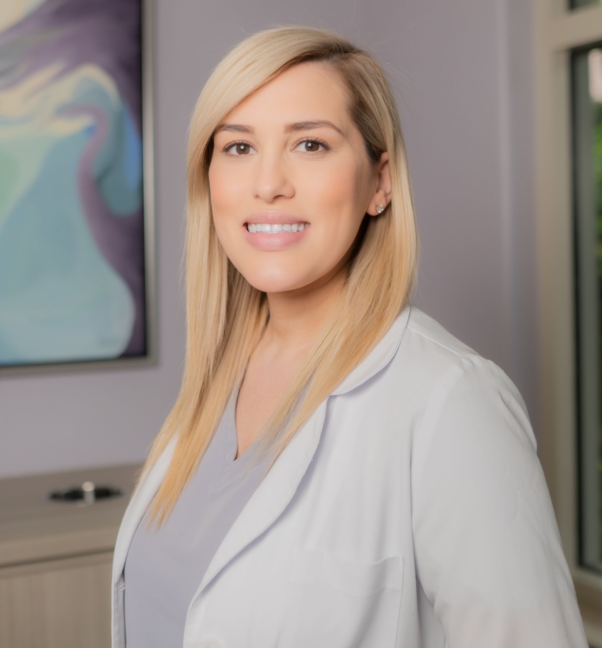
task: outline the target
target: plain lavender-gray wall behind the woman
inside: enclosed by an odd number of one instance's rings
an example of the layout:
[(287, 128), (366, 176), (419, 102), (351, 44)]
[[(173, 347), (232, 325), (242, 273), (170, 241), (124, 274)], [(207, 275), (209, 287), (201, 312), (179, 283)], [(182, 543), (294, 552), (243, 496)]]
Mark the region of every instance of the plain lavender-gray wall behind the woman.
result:
[(159, 364), (0, 380), (0, 476), (142, 461), (177, 395), (184, 356), (188, 119), (238, 41), (281, 23), (329, 27), (386, 62), (421, 237), (414, 303), (499, 364), (535, 432), (531, 16), (524, 0), (309, 0), (154, 6)]

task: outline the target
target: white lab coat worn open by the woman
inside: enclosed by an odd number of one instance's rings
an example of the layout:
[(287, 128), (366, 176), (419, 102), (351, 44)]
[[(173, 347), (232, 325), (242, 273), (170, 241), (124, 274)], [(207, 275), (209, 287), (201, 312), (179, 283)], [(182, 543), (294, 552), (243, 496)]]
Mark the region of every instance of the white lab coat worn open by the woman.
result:
[[(113, 648), (172, 450), (118, 531)], [(183, 648), (276, 647), (587, 647), (524, 400), (414, 305), (293, 437), (190, 601)]]

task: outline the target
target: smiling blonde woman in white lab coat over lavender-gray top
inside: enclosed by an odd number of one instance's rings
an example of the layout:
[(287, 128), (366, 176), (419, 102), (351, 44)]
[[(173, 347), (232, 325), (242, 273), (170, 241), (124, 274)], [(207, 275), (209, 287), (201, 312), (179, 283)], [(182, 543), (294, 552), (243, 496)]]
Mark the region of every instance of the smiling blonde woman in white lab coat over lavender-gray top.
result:
[(520, 393), (412, 306), (396, 104), (284, 26), (188, 144), (181, 391), (119, 529), (113, 648), (586, 648)]

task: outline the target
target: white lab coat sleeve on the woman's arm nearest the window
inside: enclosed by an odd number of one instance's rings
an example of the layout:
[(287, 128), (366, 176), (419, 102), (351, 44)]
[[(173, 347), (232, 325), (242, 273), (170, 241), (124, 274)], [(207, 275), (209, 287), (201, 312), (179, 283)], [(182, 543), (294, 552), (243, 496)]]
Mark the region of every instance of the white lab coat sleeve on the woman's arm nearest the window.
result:
[(446, 648), (587, 648), (530, 419), (506, 373), (460, 358), (412, 439), (416, 577)]

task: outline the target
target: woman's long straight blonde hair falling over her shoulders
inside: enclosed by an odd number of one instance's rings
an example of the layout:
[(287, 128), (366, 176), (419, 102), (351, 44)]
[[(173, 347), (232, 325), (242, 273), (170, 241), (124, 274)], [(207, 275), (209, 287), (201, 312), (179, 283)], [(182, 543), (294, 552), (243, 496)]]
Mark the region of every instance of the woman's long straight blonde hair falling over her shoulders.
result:
[(381, 153), (389, 154), (392, 196), (379, 216), (364, 216), (339, 304), (262, 430), (257, 447), (262, 453), (271, 452), (270, 467), (410, 301), (418, 267), (418, 231), (397, 106), (381, 65), (326, 29), (282, 25), (252, 34), (216, 66), (190, 121), (186, 358), (177, 400), (137, 476), (138, 484), (168, 443), (175, 441), (170, 464), (150, 503), (147, 526), (154, 521), (159, 529), (172, 513), (269, 317), (265, 293), (236, 270), (216, 235), (208, 185), (213, 131), (245, 97), (306, 61), (327, 64), (339, 73), (372, 168)]

